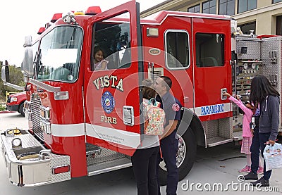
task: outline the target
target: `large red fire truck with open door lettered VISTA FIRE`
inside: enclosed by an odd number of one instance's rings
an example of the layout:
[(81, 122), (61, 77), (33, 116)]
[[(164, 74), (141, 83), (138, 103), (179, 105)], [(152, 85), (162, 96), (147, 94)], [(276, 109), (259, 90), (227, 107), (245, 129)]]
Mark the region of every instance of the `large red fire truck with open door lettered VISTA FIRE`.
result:
[[(24, 44), (29, 130), (1, 134), (12, 184), (32, 187), (131, 166), (144, 128), (140, 83), (148, 77), (171, 77), (171, 92), (183, 105), (176, 156), (180, 180), (192, 168), (197, 146), (240, 139), (234, 135), (240, 133), (240, 115), (223, 92), (250, 92), (262, 58), (244, 58), (250, 51), (245, 45), (236, 55), (236, 42), (262, 44), (262, 39), (231, 37), (236, 27), (230, 17), (161, 11), (140, 19), (139, 4), (129, 1), (53, 21), (35, 42), (27, 37)], [(96, 47), (109, 62), (106, 70), (92, 70)], [(2, 68), (8, 82), (6, 77), (8, 66)], [(273, 82), (281, 89), (278, 77)], [(160, 167), (165, 184), (164, 162)]]

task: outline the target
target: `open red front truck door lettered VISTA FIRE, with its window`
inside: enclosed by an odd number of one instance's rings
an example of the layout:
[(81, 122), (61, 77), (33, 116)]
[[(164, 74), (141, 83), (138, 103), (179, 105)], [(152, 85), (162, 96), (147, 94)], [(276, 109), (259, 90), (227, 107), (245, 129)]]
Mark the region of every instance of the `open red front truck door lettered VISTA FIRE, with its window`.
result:
[[(87, 34), (91, 41), (84, 85), (86, 142), (130, 156), (140, 144), (139, 17), (139, 3), (130, 1), (90, 18), (92, 30)], [(106, 65), (94, 65), (97, 50)]]

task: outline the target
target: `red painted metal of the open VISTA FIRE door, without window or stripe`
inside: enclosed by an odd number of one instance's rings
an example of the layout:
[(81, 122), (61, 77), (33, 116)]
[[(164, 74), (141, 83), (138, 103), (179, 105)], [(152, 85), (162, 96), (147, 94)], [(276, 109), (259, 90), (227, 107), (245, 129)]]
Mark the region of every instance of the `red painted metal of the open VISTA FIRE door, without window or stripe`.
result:
[[(116, 8), (112, 8), (109, 11), (98, 13), (89, 19), (88, 24), (92, 26), (94, 23), (109, 19), (120, 15), (122, 13), (130, 13), (130, 44), (131, 44), (131, 59), (132, 63), (130, 68), (106, 70), (106, 71), (94, 71), (90, 70), (90, 58), (85, 59), (85, 118), (87, 124), (97, 125), (99, 127), (109, 127), (113, 131), (125, 131), (140, 134), (140, 120), (139, 120), (139, 88), (138, 88), (138, 61), (137, 61), (137, 23), (136, 23), (136, 5), (135, 1), (122, 4)], [(91, 28), (92, 29), (92, 28)], [(85, 42), (87, 48), (91, 48), (92, 44), (92, 31), (87, 34)], [(90, 56), (90, 49), (85, 51), (86, 56)], [(116, 77), (116, 80), (110, 80), (109, 87), (100, 87), (97, 89), (94, 85), (94, 81), (97, 80), (99, 85), (104, 81), (104, 77), (110, 77), (111, 75)], [(123, 91), (116, 89), (118, 82), (123, 83)], [(111, 113), (105, 113), (102, 108), (102, 95), (104, 92), (110, 92), (114, 96), (115, 108)], [(135, 124), (134, 126), (128, 126), (123, 123), (122, 108), (125, 105), (134, 107)], [(116, 124), (102, 121), (102, 117), (116, 118)], [(99, 127), (98, 127), (99, 126)], [(119, 147), (118, 144), (106, 143), (105, 141), (99, 141), (99, 139), (87, 137), (87, 142), (91, 144), (104, 146), (114, 151), (120, 151), (122, 153), (132, 155), (134, 150), (127, 150), (121, 148), (127, 148), (127, 146)]]

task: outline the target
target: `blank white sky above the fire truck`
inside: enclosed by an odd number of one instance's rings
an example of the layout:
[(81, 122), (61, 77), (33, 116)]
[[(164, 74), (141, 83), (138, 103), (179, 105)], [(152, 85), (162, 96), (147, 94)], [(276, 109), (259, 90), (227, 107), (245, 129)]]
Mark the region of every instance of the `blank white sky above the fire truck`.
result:
[[(37, 39), (39, 28), (44, 27), (54, 13), (85, 11), (90, 6), (100, 6), (102, 11), (106, 11), (128, 1), (130, 0), (1, 0), (0, 61), (7, 60), (10, 65), (20, 66), (23, 61), (25, 36), (32, 35), (32, 40)], [(137, 0), (140, 3), (140, 11), (163, 1)]]

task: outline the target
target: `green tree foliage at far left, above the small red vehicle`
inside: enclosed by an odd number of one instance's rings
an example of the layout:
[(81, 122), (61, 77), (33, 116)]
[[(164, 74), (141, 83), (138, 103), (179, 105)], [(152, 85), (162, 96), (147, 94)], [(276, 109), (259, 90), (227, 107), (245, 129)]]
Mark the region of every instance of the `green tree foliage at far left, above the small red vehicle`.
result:
[[(0, 74), (3, 66), (3, 61), (0, 61)], [(16, 65), (9, 65), (9, 73), (10, 73), (10, 83), (16, 84), (19, 86), (25, 86), (25, 82), (23, 82), (23, 73), (20, 70), (20, 67), (16, 67)], [(4, 82), (0, 80), (0, 98), (6, 99), (6, 91), (7, 92), (20, 92), (16, 89), (8, 87), (4, 85)]]

